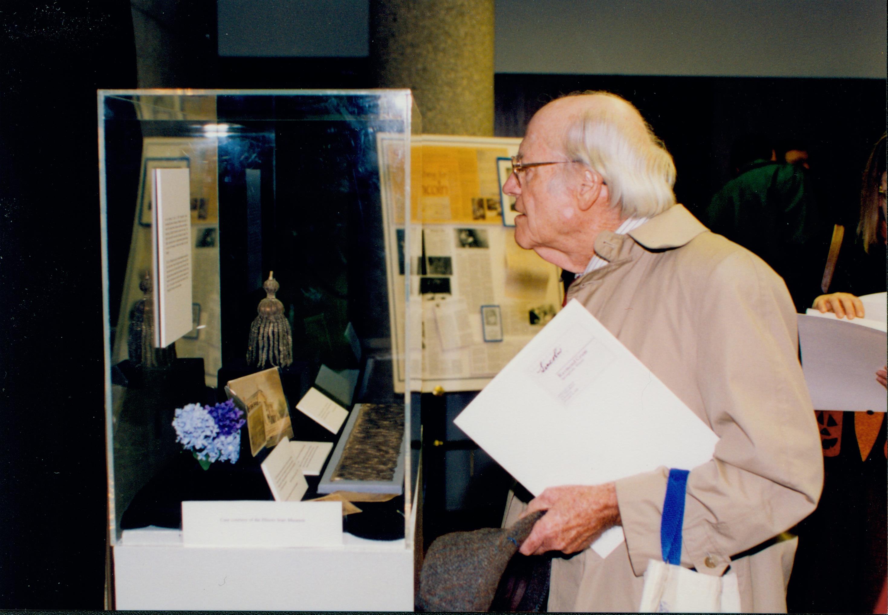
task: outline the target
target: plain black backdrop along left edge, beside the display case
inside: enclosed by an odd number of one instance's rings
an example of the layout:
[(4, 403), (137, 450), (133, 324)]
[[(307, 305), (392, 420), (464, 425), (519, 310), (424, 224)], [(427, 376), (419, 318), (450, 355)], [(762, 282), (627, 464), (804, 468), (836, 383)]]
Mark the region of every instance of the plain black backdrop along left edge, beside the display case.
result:
[(0, 609), (103, 608), (97, 88), (136, 85), (130, 4), (0, 4)]

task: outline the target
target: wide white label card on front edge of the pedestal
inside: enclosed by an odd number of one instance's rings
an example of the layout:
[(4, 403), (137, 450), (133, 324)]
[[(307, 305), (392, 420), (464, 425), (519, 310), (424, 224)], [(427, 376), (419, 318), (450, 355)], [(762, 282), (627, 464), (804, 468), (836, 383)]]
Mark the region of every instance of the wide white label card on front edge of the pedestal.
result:
[(342, 544), (342, 502), (183, 501), (186, 547), (329, 547)]

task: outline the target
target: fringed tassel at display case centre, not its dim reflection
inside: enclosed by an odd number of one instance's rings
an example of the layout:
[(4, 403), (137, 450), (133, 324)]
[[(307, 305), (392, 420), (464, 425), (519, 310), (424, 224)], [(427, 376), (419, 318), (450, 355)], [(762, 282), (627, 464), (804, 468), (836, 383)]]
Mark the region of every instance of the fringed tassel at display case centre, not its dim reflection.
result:
[(293, 362), (293, 337), (283, 314), (283, 304), (274, 298), (274, 293), (281, 287), (273, 276), (274, 272), (269, 272), (268, 280), (262, 284), (268, 296), (259, 302), (258, 316), (250, 325), (247, 363), (259, 368), (265, 367), (266, 363), (287, 367)]

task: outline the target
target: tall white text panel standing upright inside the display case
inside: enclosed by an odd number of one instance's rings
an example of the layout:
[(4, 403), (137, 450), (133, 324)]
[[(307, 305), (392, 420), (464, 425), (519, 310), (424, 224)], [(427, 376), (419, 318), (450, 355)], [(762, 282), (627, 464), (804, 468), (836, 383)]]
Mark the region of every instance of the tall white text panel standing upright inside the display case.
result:
[(165, 348), (194, 327), (191, 192), (187, 169), (155, 169), (151, 177), (154, 343)]

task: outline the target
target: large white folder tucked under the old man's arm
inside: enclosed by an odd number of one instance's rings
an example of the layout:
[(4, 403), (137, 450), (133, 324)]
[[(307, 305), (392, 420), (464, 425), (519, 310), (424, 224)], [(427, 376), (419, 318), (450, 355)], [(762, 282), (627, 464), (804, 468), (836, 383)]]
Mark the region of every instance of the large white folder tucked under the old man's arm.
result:
[[(710, 461), (718, 436), (573, 300), (462, 414), (464, 430), (539, 495)], [(592, 543), (607, 556), (622, 528)]]

